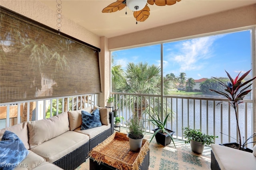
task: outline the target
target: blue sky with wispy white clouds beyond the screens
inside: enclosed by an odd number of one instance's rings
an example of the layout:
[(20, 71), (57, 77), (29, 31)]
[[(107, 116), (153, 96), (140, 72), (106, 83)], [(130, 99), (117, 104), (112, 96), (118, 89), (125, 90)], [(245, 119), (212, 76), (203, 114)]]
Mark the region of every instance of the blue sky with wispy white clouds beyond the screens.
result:
[[(160, 66), (161, 45), (150, 45), (113, 51), (114, 64), (125, 70), (128, 63), (145, 63)], [(251, 69), (251, 30), (186, 39), (163, 44), (163, 72), (186, 78), (234, 78)], [(241, 74), (242, 74), (241, 73)], [(240, 75), (241, 75), (240, 74)]]

